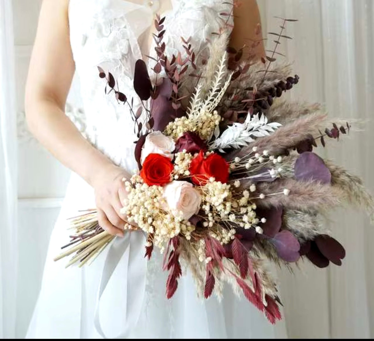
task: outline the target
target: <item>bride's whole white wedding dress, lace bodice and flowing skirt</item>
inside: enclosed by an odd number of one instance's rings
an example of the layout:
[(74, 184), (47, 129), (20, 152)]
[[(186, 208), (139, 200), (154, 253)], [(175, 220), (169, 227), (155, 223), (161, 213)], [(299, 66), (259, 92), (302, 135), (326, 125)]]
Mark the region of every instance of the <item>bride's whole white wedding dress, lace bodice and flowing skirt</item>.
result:
[[(138, 38), (153, 25), (160, 1), (143, 5), (125, 0), (70, 0), (70, 40), (86, 113), (84, 133), (113, 162), (128, 171), (136, 168), (134, 131), (127, 106), (104, 94), (97, 66), (118, 77), (128, 98), (135, 61), (147, 55)], [(206, 53), (206, 39), (222, 24), (220, 12), (229, 12), (223, 0), (165, 0), (172, 9), (163, 13), (166, 53), (184, 51), (180, 37), (191, 36), (197, 53)], [(162, 8), (162, 6), (161, 6)], [(144, 34), (143, 34), (144, 35)], [(53, 230), (42, 289), (27, 338), (275, 338), (285, 337), (284, 323), (275, 327), (232, 289), (221, 302), (201, 300), (191, 276), (184, 272), (176, 294), (165, 298), (167, 273), (161, 256), (144, 258), (144, 235), (127, 233), (83, 269), (65, 269), (67, 260), (53, 262), (68, 239), (66, 218), (94, 207), (93, 191), (73, 175)]]

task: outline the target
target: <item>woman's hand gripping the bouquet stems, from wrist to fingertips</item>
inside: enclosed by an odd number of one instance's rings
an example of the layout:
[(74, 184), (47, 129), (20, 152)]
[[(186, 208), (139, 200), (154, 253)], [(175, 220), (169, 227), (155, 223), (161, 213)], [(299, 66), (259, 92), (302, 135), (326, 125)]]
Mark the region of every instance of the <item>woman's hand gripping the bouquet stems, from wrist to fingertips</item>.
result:
[(120, 212), (127, 197), (123, 178), (129, 179), (129, 174), (110, 164), (102, 168), (92, 181), (99, 225), (111, 235), (119, 237), (123, 237), (126, 224), (126, 216)]

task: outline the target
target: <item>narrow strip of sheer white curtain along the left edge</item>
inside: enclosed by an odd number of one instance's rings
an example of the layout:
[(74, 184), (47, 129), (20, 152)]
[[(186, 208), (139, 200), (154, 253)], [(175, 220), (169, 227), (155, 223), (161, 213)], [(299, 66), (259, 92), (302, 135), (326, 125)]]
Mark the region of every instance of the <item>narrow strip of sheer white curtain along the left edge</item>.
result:
[(15, 338), (17, 137), (11, 0), (0, 1), (0, 338)]

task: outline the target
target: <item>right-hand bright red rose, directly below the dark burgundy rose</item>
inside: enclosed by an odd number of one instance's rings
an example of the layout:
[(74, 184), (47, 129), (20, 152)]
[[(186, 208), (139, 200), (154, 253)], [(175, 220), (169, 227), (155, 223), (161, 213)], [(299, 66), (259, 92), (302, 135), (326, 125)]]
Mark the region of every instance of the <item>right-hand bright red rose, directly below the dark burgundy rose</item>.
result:
[(229, 180), (229, 164), (218, 154), (210, 154), (204, 158), (203, 151), (192, 159), (190, 165), (192, 182), (195, 185), (203, 186), (209, 178), (214, 177), (215, 181), (226, 183)]

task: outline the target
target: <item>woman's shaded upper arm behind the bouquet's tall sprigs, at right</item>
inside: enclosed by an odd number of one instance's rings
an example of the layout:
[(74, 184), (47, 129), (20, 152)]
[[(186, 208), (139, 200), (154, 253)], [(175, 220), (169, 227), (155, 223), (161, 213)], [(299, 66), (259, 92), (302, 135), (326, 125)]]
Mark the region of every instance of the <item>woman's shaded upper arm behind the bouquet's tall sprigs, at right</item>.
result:
[[(254, 41), (262, 39), (262, 34), (256, 35), (257, 26), (261, 25), (260, 11), (256, 0), (242, 0), (240, 6), (234, 6), (234, 28), (230, 37), (230, 46), (239, 50), (246, 46), (245, 53), (249, 52)], [(264, 43), (261, 41), (252, 53), (256, 59), (265, 57)]]

